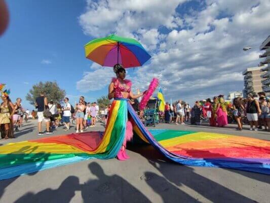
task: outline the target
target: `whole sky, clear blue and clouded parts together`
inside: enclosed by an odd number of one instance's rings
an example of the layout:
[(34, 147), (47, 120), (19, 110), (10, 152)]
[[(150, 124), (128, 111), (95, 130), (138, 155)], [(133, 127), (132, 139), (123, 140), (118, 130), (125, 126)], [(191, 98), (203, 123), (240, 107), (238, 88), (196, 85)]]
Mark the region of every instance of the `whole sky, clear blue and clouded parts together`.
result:
[[(114, 75), (85, 58), (84, 45), (111, 33), (140, 41), (152, 58), (128, 70), (133, 87), (160, 80), (167, 100), (196, 99), (243, 89), (242, 72), (259, 63), (269, 35), (270, 5), (259, 0), (7, 1), (10, 24), (0, 37), (0, 82), (23, 99), (40, 81), (57, 81), (73, 104), (107, 94)], [(3, 72), (2, 72), (3, 73)]]

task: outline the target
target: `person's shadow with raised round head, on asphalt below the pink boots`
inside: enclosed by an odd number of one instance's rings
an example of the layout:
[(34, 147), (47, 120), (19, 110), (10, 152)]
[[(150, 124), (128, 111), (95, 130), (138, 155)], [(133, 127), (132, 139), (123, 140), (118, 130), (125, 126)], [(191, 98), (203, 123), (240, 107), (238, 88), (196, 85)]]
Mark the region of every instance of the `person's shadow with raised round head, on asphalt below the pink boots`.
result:
[(118, 175), (107, 176), (102, 167), (92, 162), (89, 169), (96, 180), (82, 186), (84, 202), (150, 202), (137, 188)]

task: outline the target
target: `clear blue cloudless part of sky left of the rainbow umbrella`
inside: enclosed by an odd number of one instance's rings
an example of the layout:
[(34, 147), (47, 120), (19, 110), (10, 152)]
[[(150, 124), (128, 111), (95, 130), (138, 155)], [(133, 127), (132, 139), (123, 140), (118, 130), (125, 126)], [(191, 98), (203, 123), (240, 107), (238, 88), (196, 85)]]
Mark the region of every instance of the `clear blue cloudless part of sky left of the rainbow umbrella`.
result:
[[(10, 24), (0, 38), (0, 66), (7, 70), (0, 82), (11, 89), (11, 98), (23, 99), (39, 81), (57, 81), (67, 95), (87, 96), (90, 101), (103, 92), (81, 93), (76, 81), (89, 70), (84, 44), (93, 39), (84, 35), (78, 17), (85, 1), (8, 1)], [(71, 96), (72, 102), (74, 97)], [(77, 98), (78, 99), (78, 98)]]

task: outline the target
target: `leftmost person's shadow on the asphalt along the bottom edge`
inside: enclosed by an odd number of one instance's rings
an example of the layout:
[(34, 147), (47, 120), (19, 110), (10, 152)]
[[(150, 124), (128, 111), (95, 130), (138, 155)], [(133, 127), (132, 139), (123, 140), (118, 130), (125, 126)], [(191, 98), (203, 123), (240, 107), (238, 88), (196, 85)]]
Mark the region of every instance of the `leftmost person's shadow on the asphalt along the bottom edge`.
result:
[(80, 190), (79, 178), (76, 176), (67, 177), (57, 188), (53, 190), (47, 188), (36, 194), (27, 192), (25, 195), (17, 199), (14, 203), (36, 203), (36, 202), (50, 202), (50, 203), (68, 203), (75, 195), (76, 190)]

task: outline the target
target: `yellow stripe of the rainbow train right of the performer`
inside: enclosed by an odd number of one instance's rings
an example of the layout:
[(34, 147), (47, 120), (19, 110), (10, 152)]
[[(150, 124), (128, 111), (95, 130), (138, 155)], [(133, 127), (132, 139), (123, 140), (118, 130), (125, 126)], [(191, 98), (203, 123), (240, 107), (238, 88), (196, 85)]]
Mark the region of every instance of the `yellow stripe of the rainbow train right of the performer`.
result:
[(232, 136), (229, 136), (228, 134), (219, 134), (219, 133), (210, 133), (210, 132), (195, 132), (192, 134), (187, 134), (185, 136), (180, 136), (176, 138), (172, 138), (169, 140), (163, 140), (159, 143), (163, 147), (171, 147), (174, 145), (179, 145), (183, 143), (188, 142), (197, 142), (202, 140), (212, 140), (212, 139), (223, 139), (223, 138), (229, 138)]

